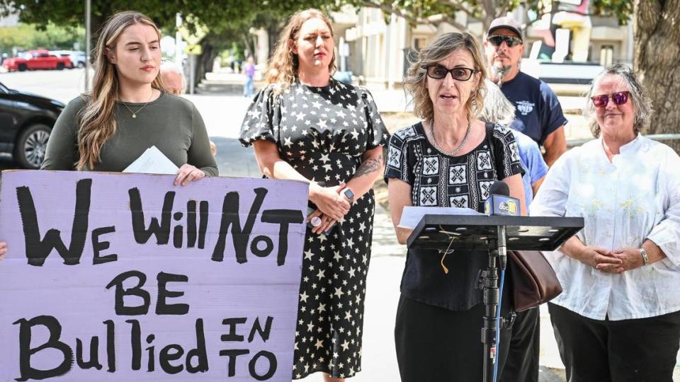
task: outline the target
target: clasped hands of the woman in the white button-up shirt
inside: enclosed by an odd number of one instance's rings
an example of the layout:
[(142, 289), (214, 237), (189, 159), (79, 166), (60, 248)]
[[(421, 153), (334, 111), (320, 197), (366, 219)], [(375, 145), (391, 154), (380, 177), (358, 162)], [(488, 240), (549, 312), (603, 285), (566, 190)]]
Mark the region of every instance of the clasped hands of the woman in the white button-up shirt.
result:
[(599, 247), (584, 247), (580, 252), (579, 260), (602, 272), (623, 273), (645, 265), (638, 248), (606, 250)]

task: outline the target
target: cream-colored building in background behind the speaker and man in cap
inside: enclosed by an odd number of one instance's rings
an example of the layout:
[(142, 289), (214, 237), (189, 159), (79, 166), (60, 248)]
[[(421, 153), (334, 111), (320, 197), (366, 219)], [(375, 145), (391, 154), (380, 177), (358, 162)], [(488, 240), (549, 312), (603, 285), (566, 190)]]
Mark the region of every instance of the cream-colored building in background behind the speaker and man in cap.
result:
[[(535, 42), (557, 43), (557, 54), (553, 62), (588, 62), (594, 64), (633, 63), (633, 30), (630, 25), (619, 26), (615, 17), (589, 16), (589, 0), (563, 0), (565, 11), (556, 12), (555, 24), (560, 29), (555, 40), (549, 35), (550, 14), (541, 21), (526, 28), (526, 59), (532, 54)], [(561, 8), (562, 9), (562, 8)], [(346, 13), (343, 11), (342, 13)], [(442, 33), (458, 31), (447, 23), (433, 25), (410, 25), (404, 18), (395, 15), (385, 16), (380, 9), (362, 8), (352, 12), (351, 18), (345, 18), (339, 27), (335, 27), (339, 41), (339, 52), (345, 57), (344, 69), (351, 71), (362, 84), (369, 88), (400, 88), (408, 67), (408, 56), (423, 47)], [(578, 12), (578, 13), (576, 13)], [(584, 14), (580, 14), (584, 13)], [(518, 21), (523, 21), (526, 11), (514, 12)], [(436, 17), (436, 16), (435, 16)], [(334, 16), (336, 20), (339, 18)], [(348, 27), (351, 19), (356, 24)], [(436, 21), (436, 18), (434, 19)], [(466, 25), (470, 33), (482, 38), (485, 30), (482, 23), (467, 19), (465, 13), (455, 15), (455, 20)], [(342, 32), (344, 31), (344, 34)], [(346, 47), (342, 45), (347, 44)], [(538, 45), (536, 45), (538, 46)], [(538, 48), (536, 48), (538, 49)], [(538, 51), (533, 53), (538, 58)]]

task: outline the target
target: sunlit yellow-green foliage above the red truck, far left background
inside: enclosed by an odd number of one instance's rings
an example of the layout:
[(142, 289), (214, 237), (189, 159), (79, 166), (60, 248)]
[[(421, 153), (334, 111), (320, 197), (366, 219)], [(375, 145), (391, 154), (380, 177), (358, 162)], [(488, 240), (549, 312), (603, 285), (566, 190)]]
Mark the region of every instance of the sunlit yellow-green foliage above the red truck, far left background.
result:
[(54, 24), (19, 24), (14, 27), (0, 28), (0, 51), (11, 53), (18, 50), (49, 49), (73, 50), (74, 44), (84, 46), (85, 30), (82, 27), (60, 27)]

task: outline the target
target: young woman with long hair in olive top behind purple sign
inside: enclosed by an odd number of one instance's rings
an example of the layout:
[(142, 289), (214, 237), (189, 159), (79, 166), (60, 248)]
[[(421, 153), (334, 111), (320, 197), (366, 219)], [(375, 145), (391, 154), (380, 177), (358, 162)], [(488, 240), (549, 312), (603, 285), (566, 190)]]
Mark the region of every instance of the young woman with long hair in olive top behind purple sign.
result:
[(142, 13), (108, 19), (94, 50), (93, 89), (60, 115), (43, 169), (122, 171), (156, 146), (179, 167), (175, 185), (217, 175), (198, 110), (164, 91), (160, 39), (157, 25)]

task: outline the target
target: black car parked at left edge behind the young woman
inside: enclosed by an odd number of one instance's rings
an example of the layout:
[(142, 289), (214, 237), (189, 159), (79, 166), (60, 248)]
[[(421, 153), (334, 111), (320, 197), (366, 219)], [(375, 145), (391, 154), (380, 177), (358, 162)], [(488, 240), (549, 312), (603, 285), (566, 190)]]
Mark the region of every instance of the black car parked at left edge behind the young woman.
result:
[(0, 83), (0, 152), (12, 154), (22, 168), (40, 168), (47, 139), (64, 106)]

